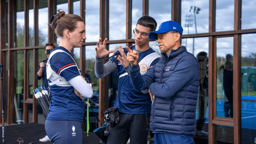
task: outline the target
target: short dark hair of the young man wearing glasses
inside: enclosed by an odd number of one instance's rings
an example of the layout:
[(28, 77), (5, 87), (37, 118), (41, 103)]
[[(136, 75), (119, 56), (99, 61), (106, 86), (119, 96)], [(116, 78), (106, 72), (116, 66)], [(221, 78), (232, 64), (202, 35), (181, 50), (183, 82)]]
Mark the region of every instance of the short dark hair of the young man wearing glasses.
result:
[(153, 19), (152, 17), (149, 17), (149, 16), (141, 17), (137, 21), (137, 24), (142, 25), (144, 27), (149, 27), (149, 28), (151, 28), (151, 31), (155, 31), (156, 26), (157, 26), (157, 23), (156, 23), (155, 19)]

